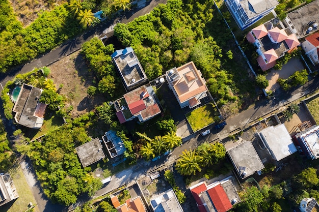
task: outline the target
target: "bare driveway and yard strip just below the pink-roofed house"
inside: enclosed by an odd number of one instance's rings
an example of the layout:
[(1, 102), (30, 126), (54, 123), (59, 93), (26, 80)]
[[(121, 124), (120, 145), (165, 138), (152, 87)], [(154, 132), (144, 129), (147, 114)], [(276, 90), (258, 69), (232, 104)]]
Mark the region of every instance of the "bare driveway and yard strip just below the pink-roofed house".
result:
[(287, 79), (289, 76), (293, 75), (296, 71), (301, 71), (305, 69), (302, 60), (299, 57), (293, 57), (289, 62), (282, 67), (281, 70), (272, 69), (270, 73), (267, 74), (266, 78), (269, 81), (267, 90), (277, 90), (280, 88), (279, 83), (277, 83), (278, 78)]

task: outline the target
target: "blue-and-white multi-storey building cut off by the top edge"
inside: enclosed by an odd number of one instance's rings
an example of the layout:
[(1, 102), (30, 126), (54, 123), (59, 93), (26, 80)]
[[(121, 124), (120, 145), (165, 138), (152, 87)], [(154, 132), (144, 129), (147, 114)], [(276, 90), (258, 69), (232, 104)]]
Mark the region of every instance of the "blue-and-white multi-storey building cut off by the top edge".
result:
[(279, 5), (277, 0), (225, 0), (225, 3), (242, 30), (271, 13)]

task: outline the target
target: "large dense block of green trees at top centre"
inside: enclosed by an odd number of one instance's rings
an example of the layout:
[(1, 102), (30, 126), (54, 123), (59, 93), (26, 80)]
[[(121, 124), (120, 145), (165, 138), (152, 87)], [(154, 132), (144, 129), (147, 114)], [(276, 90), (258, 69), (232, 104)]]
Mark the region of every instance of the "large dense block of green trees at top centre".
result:
[(219, 104), (253, 95), (246, 65), (231, 59), (226, 42), (231, 34), (213, 1), (168, 1), (126, 25), (117, 24), (114, 35), (134, 48), (149, 79), (193, 60)]

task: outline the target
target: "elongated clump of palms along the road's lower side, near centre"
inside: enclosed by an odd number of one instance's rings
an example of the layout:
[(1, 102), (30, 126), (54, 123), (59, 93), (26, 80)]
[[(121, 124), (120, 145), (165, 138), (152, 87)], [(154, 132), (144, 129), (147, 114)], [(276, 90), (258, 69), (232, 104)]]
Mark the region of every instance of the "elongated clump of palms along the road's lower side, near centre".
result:
[(195, 150), (184, 150), (176, 162), (176, 170), (182, 175), (195, 175), (202, 167), (218, 163), (225, 158), (226, 149), (223, 144), (203, 143)]

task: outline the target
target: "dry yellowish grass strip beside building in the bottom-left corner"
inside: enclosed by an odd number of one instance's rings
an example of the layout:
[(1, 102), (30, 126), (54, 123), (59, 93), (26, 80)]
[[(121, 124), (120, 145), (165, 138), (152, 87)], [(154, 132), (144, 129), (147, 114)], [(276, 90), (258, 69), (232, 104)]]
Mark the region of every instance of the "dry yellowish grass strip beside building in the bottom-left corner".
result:
[[(19, 162), (16, 162), (15, 165), (9, 170), (9, 173), (13, 179), (13, 183), (15, 188), (17, 189), (19, 198), (16, 199), (13, 203), (8, 203), (1, 207), (0, 211), (6, 212), (17, 212), (17, 211), (25, 211), (28, 209), (28, 204), (32, 202), (32, 204), (36, 204), (36, 200), (33, 197), (32, 191), (26, 183), (26, 179), (23, 175), (21, 166)], [(34, 211), (38, 212), (39, 208), (36, 205)]]

